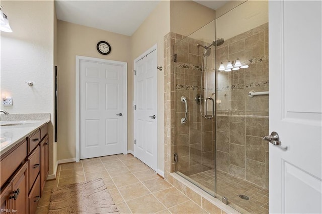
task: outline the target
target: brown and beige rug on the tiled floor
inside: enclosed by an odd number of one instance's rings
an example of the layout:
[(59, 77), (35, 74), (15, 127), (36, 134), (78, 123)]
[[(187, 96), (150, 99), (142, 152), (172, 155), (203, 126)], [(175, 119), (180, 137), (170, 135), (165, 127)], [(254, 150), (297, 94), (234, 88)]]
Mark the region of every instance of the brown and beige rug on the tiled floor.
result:
[(118, 209), (104, 181), (98, 178), (54, 188), (49, 213), (118, 213)]

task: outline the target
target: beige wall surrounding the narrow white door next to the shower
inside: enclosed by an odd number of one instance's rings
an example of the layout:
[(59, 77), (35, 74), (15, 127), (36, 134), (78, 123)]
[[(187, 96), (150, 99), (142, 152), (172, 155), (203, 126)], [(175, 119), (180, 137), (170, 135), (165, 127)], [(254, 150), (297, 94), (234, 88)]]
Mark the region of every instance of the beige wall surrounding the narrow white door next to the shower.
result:
[[(132, 58), (129, 67), (133, 70), (134, 59), (143, 54), (146, 50), (157, 44), (157, 65), (163, 66), (164, 50), (163, 37), (170, 31), (170, 3), (169, 1), (161, 1), (156, 8), (151, 12), (148, 18), (135, 31), (131, 37)], [(164, 171), (164, 69), (158, 70), (158, 86), (157, 86), (157, 103), (158, 103), (158, 169)], [(128, 149), (134, 151), (134, 130), (133, 130), (133, 94), (134, 75), (133, 72), (128, 75), (128, 88), (132, 88), (129, 97), (129, 112), (128, 130), (129, 130), (129, 145)], [(132, 140), (131, 140), (132, 139)]]

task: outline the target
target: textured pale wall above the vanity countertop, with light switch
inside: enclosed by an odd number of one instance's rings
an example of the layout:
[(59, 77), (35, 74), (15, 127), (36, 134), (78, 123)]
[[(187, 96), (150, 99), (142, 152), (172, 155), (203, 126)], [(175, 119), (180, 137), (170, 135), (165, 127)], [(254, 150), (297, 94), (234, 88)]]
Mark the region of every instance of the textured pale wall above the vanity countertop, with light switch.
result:
[[(13, 97), (9, 113), (50, 113), (50, 167), (53, 144), (54, 2), (2, 1), (12, 33), (1, 32), (1, 92)], [(33, 81), (32, 87), (25, 81)]]

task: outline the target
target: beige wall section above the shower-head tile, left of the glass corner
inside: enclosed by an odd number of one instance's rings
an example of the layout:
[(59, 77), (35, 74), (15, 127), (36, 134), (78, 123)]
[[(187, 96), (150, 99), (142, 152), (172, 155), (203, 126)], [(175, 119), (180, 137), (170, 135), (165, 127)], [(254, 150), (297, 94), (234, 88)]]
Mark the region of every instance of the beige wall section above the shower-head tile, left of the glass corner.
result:
[(215, 19), (216, 11), (193, 1), (170, 1), (170, 31), (188, 36)]

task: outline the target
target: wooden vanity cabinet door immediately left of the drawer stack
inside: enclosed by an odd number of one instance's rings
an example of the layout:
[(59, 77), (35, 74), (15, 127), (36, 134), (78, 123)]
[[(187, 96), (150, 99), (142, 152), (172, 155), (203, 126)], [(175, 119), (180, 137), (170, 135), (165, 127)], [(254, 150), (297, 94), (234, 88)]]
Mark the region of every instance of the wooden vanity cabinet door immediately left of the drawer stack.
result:
[(28, 163), (26, 162), (12, 179), (12, 195), (17, 194), (16, 198), (12, 198), (12, 209), (16, 213), (27, 213), (27, 199), (28, 199)]

